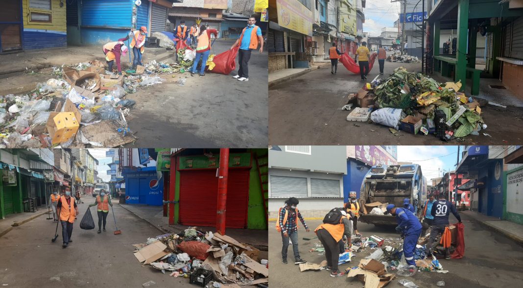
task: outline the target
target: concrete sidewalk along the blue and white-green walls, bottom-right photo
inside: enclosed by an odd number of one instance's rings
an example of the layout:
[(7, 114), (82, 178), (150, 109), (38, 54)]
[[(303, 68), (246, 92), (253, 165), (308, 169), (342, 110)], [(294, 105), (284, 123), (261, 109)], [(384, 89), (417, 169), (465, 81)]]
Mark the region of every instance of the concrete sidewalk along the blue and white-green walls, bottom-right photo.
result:
[(475, 220), (478, 223), (516, 241), (518, 244), (523, 245), (523, 225), (519, 225), (510, 221), (499, 220), (496, 217), (486, 216), (469, 210), (460, 211), (459, 213), (466, 215), (468, 218), (472, 218), (472, 220)]

